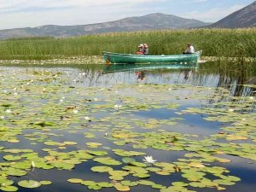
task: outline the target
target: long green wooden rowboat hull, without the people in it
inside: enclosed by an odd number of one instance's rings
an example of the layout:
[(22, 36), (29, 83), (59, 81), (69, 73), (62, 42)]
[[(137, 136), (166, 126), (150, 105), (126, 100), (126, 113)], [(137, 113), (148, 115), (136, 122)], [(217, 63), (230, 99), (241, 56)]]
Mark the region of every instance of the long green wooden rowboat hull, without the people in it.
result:
[(131, 55), (119, 54), (103, 51), (103, 58), (106, 63), (125, 64), (125, 63), (196, 63), (201, 51), (196, 51), (194, 54), (185, 55)]

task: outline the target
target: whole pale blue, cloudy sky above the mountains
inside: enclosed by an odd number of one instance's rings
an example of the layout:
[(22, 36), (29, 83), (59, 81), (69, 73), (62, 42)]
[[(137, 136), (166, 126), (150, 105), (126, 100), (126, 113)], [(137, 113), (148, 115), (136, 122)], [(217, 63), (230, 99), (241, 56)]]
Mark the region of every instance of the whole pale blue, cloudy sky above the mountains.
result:
[(0, 0), (0, 29), (73, 26), (153, 13), (216, 22), (254, 0)]

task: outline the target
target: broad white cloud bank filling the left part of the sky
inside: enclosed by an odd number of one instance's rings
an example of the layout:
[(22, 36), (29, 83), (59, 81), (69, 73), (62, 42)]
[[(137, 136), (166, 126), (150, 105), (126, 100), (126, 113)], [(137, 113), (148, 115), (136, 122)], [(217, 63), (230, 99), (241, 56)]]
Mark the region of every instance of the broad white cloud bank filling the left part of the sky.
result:
[[(0, 0), (0, 29), (83, 25), (147, 13), (148, 3), (167, 0)], [(143, 13), (138, 11), (144, 9)], [(121, 17), (123, 15), (123, 17)]]

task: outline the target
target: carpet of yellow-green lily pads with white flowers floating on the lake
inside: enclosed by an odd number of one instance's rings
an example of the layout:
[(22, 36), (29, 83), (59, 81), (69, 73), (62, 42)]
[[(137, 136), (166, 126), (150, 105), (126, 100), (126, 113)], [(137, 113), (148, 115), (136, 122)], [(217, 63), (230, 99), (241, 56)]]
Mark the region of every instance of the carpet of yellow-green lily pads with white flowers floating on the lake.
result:
[[(5, 70), (0, 88), (3, 191), (50, 185), (53, 177), (32, 173), (75, 175), (78, 166), (88, 168), (79, 168), (84, 177), (67, 175), (61, 183), (102, 191), (224, 190), (242, 182), (227, 166), (234, 158), (256, 160), (254, 96), (184, 84), (84, 88), (68, 73), (33, 68)], [(225, 100), (212, 102), (219, 97)], [(218, 127), (196, 132), (186, 115)]]

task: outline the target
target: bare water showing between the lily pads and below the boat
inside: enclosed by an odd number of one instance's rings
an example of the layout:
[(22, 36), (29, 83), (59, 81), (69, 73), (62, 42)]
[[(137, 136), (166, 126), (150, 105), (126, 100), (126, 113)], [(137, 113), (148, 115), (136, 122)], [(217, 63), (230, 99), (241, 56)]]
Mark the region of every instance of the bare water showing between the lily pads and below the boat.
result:
[[(226, 94), (229, 96), (241, 96), (241, 99), (246, 96), (255, 96), (255, 89), (250, 87), (241, 86), (241, 84), (255, 84), (256, 82), (256, 74), (253, 70), (247, 70), (247, 73), (232, 73), (230, 71), (221, 72), (216, 67), (212, 67), (213, 64), (201, 64), (205, 65), (203, 67), (193, 67), (193, 68), (175, 68), (175, 67), (164, 67), (164, 68), (150, 68), (150, 67), (140, 67), (132, 68), (131, 66), (126, 67), (81, 67), (81, 66), (55, 66), (55, 67), (42, 67), (42, 66), (25, 66), (25, 67), (17, 67), (17, 66), (1, 66), (0, 67), (0, 78), (2, 79), (0, 88), (1, 91), (9, 90), (9, 87), (6, 82), (11, 82), (13, 79), (14, 82), (19, 80), (26, 80), (25, 82), (32, 84), (26, 77), (26, 73), (30, 75), (33, 72), (35, 75), (38, 73), (55, 73), (55, 78), (50, 79), (49, 82), (39, 82), (38, 84), (65, 84), (65, 87), (69, 86), (73, 89), (73, 93), (75, 93), (76, 89), (86, 89), (91, 87), (93, 89), (102, 89), (107, 88), (111, 89), (111, 87), (115, 84), (137, 84), (138, 86), (143, 86), (143, 84), (177, 84), (177, 85), (188, 85), (188, 86), (202, 86), (208, 87), (209, 90), (218, 91), (219, 88), (225, 88), (228, 90)], [(58, 77), (58, 73), (64, 73), (65, 80), (62, 83), (61, 79)], [(60, 75), (61, 76), (61, 75)], [(9, 80), (7, 80), (9, 79)], [(19, 79), (19, 80), (18, 80)], [(13, 83), (15, 84), (15, 83)], [(24, 83), (25, 84), (25, 83)], [(17, 85), (18, 86), (18, 85)], [(63, 86), (64, 87), (64, 86)], [(10, 91), (10, 90), (9, 90)], [(65, 92), (63, 90), (63, 92)], [(129, 96), (129, 93), (125, 93)], [(130, 93), (133, 94), (133, 93)], [(199, 94), (203, 98), (199, 99), (190, 99), (192, 91), (190, 89), (177, 89), (173, 91), (173, 95), (170, 95), (170, 102), (177, 102), (180, 104), (176, 109), (166, 109), (166, 108), (152, 108), (151, 110), (140, 110), (137, 112), (132, 112), (132, 118), (134, 119), (172, 119), (181, 117), (177, 112), (182, 111), (186, 108), (205, 108), (208, 104), (214, 102), (227, 102), (230, 100), (230, 97), (227, 96), (219, 96), (218, 101), (210, 96), (210, 93), (206, 90), (199, 91)], [(67, 97), (63, 93), (63, 96)], [(139, 97), (139, 95), (137, 95)], [(161, 96), (161, 94), (159, 94)], [(182, 96), (182, 99), (179, 97)], [(61, 96), (59, 96), (61, 98)], [(100, 97), (98, 97), (100, 99)], [(22, 98), (22, 101), (26, 101), (31, 98)], [(152, 98), (152, 102), (158, 101), (159, 98)], [(28, 101), (30, 102), (30, 101)], [(31, 101), (32, 102), (32, 101)], [(40, 103), (47, 103), (47, 100), (42, 98)], [(122, 103), (122, 101), (119, 101)], [(29, 106), (29, 103), (27, 104)], [(31, 107), (33, 104), (31, 103)], [(255, 108), (252, 109), (252, 113), (255, 112)], [(102, 117), (106, 117), (107, 112), (95, 113), (96, 119), (101, 119)], [(1, 112), (3, 115), (3, 111)], [(125, 114), (124, 114), (125, 116)], [(182, 115), (183, 119), (178, 120), (177, 125), (161, 126), (161, 130), (173, 131), (179, 133), (186, 134), (195, 134), (199, 138), (208, 137), (210, 135), (216, 134), (221, 131), (221, 128), (224, 126), (228, 126), (228, 123), (221, 123), (218, 121), (207, 121), (207, 114), (190, 114), (186, 113)], [(127, 114), (126, 118), (131, 118)], [(132, 119), (131, 119), (132, 123)], [(94, 125), (96, 122), (90, 122), (89, 125)], [(66, 151), (77, 150), (77, 149), (88, 149), (84, 145), (87, 142), (100, 142), (102, 146), (107, 147), (108, 154), (112, 156), (115, 160), (122, 160), (122, 157), (113, 154), (110, 150), (111, 148), (124, 148), (125, 150), (137, 150), (143, 151), (148, 155), (153, 155), (154, 159), (161, 162), (173, 162), (179, 158), (183, 158), (185, 154), (184, 151), (162, 151), (154, 148), (146, 148), (146, 149), (134, 149), (131, 144), (127, 143), (122, 147), (117, 147), (113, 144), (112, 141), (108, 139), (104, 139), (104, 132), (95, 131), (96, 138), (88, 139), (84, 138), (84, 132), (86, 129), (76, 130), (75, 133), (70, 134), (70, 130), (54, 130), (51, 133), (55, 133), (57, 135), (61, 135), (61, 137), (51, 137), (54, 138), (55, 141), (65, 142), (65, 141), (75, 141), (77, 145), (73, 147), (68, 147)], [(144, 131), (147, 130), (139, 130)], [(151, 131), (151, 130), (149, 130)], [(33, 143), (31, 145), (31, 141), (28, 141), (24, 135), (33, 133), (34, 130), (26, 129), (23, 131), (22, 135), (19, 135), (18, 138), (20, 143), (6, 143), (1, 142), (1, 145), (4, 148), (32, 148), (33, 151), (38, 152), (40, 155), (44, 156), (46, 153), (42, 151), (42, 148), (49, 148), (49, 146), (45, 146), (44, 143)], [(101, 148), (102, 149), (102, 148)], [(106, 149), (105, 149), (106, 150)], [(252, 153), (255, 153), (255, 151)], [(1, 161), (3, 160), (3, 155), (1, 154)], [(253, 192), (256, 189), (256, 166), (255, 161), (241, 159), (237, 156), (232, 155), (221, 155), (220, 156), (231, 160), (230, 163), (220, 164), (214, 163), (214, 166), (224, 166), (230, 171), (230, 175), (234, 175), (236, 177), (240, 177), (241, 181), (236, 183), (234, 186), (226, 186), (227, 192), (241, 192), (248, 191)], [(143, 156), (134, 157), (137, 161), (142, 161)], [(56, 169), (52, 170), (42, 170), (42, 169), (34, 169), (33, 171), (28, 172), (26, 176), (23, 177), (9, 177), (17, 183), (23, 179), (33, 179), (33, 180), (50, 180), (53, 183), (50, 185), (41, 186), (38, 189), (25, 189), (19, 187), (20, 192), (32, 192), (32, 191), (48, 191), (48, 192), (63, 192), (63, 191), (72, 191), (72, 192), (80, 192), (80, 191), (94, 191), (91, 189), (87, 189), (86, 186), (80, 184), (67, 183), (67, 179), (69, 178), (81, 178), (84, 180), (95, 180), (97, 182), (107, 181), (108, 174), (101, 173), (100, 176), (96, 172), (91, 172), (90, 168), (92, 166), (101, 166), (101, 164), (96, 163), (92, 160), (88, 160), (87, 162), (78, 164), (72, 171), (59, 171)], [(122, 166), (116, 166), (116, 168), (121, 168)], [(128, 176), (125, 179), (133, 179)], [(172, 182), (175, 181), (185, 181), (179, 174), (171, 174), (170, 176), (160, 176), (154, 173), (150, 174), (150, 180), (155, 183), (160, 183), (166, 186), (170, 186)], [(17, 184), (15, 184), (17, 186)], [(207, 191), (213, 192), (218, 191), (217, 189), (199, 189), (188, 187), (188, 189), (193, 189), (195, 191)], [(101, 189), (100, 191), (116, 191), (113, 188), (109, 189)], [(136, 187), (131, 187), (131, 191), (159, 191), (157, 189), (152, 189), (148, 186), (139, 185)]]

